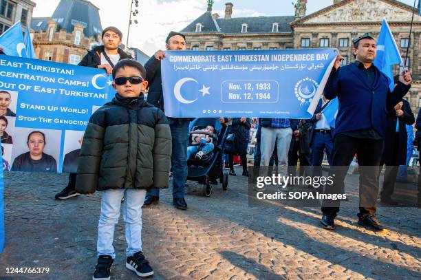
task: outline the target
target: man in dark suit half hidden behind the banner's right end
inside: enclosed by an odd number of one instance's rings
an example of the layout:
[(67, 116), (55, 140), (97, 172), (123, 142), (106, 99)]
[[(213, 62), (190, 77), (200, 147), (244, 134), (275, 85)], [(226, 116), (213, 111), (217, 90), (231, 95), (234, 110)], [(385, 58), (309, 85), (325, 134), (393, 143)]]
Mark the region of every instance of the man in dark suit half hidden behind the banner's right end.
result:
[(313, 117), (309, 120), (312, 125), (310, 131), (310, 147), (312, 149), (312, 175), (321, 176), (321, 164), (323, 162), (324, 151), (326, 151), (327, 162), (332, 165), (331, 155), (333, 149), (332, 133), (333, 129), (330, 127), (325, 116), (323, 116), (323, 109), (330, 103), (325, 96), (319, 100), (319, 104), (314, 111)]

